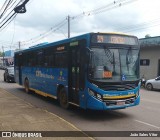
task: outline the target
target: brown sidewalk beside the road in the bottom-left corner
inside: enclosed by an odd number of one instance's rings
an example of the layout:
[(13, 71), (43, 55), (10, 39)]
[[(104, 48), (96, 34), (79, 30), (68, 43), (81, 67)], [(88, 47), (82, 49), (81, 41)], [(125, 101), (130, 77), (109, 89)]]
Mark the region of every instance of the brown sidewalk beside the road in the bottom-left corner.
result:
[(0, 131), (0, 139), (93, 140), (63, 118), (24, 101), (3, 87), (0, 88)]

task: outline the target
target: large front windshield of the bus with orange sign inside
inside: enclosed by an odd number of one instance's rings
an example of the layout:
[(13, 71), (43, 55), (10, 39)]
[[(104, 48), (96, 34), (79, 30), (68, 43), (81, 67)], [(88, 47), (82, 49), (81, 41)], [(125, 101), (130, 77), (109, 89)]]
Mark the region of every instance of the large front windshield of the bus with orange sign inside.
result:
[(92, 46), (89, 79), (101, 82), (135, 81), (139, 78), (139, 48)]

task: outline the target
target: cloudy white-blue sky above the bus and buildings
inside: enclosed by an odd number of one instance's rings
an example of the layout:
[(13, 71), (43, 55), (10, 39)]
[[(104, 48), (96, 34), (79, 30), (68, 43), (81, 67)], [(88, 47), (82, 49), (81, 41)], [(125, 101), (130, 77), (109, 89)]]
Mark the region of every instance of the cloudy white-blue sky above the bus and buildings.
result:
[[(0, 0), (0, 8), (5, 1)], [(17, 14), (0, 30), (0, 51), (2, 46), (5, 50), (18, 49), (18, 42), (24, 49), (66, 39), (68, 15), (71, 37), (88, 32), (160, 36), (159, 6), (160, 0), (29, 0), (26, 13)]]

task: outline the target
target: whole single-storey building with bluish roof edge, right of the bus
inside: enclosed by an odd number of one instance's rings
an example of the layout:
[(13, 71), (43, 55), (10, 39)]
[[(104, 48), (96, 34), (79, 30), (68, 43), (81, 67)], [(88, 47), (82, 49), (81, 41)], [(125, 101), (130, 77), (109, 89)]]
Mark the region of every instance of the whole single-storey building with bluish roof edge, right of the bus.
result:
[(140, 77), (153, 79), (160, 76), (160, 36), (139, 39)]

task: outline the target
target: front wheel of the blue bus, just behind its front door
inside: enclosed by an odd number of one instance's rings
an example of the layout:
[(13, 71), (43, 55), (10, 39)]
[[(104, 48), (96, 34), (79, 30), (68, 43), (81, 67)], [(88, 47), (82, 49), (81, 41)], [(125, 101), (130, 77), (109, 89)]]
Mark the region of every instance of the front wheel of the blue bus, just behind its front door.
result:
[(61, 107), (67, 109), (69, 107), (69, 103), (66, 90), (61, 88), (58, 96)]

